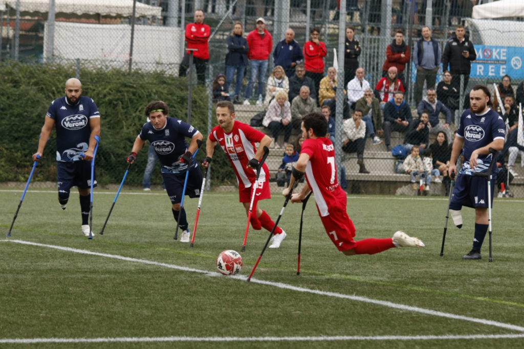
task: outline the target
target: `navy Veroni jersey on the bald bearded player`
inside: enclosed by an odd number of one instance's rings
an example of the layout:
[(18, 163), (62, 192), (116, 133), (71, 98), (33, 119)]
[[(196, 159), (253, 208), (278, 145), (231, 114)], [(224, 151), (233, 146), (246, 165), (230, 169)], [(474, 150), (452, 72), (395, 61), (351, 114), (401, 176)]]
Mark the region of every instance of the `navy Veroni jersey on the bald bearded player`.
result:
[(57, 161), (80, 161), (81, 153), (89, 148), (91, 127), (89, 119), (100, 118), (100, 113), (93, 99), (80, 96), (76, 105), (60, 97), (49, 106), (46, 116), (54, 120), (57, 129)]

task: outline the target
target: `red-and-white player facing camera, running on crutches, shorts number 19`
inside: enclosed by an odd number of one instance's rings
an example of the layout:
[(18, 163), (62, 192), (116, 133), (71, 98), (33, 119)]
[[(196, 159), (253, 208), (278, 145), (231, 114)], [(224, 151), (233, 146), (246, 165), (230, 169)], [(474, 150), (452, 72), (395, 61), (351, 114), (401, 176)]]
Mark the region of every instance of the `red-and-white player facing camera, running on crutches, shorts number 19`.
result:
[[(268, 147), (271, 144), (271, 138), (243, 122), (236, 121), (235, 107), (231, 102), (222, 101), (216, 104), (216, 119), (219, 121), (219, 125), (213, 128), (206, 142), (207, 157), (202, 165), (204, 167), (209, 166), (215, 152), (216, 143), (219, 143), (229, 157), (233, 170), (235, 170), (239, 201), (242, 202), (246, 213), (249, 214), (252, 190), (255, 186), (256, 168), (260, 158), (264, 155), (264, 146)], [(258, 150), (255, 147), (257, 142), (260, 143)], [(252, 214), (250, 219), (251, 226), (255, 230), (264, 227), (264, 229), (271, 231), (275, 226), (275, 222), (266, 211), (258, 207), (259, 200), (271, 198), (269, 177), (269, 169), (266, 164), (263, 164), (253, 202), (253, 210), (256, 215)], [(278, 249), (284, 239), (286, 239), (286, 232), (280, 227), (276, 227), (273, 243), (269, 248)]]

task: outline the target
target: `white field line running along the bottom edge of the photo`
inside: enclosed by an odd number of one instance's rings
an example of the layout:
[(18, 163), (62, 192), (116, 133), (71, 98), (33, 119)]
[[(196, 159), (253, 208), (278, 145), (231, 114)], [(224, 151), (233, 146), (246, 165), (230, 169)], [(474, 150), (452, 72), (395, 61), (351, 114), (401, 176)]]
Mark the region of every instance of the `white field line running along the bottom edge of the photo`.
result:
[(519, 339), (524, 334), (418, 335), (418, 336), (307, 336), (307, 337), (116, 337), (0, 339), (0, 344), (137, 343), (137, 342), (324, 342), (324, 341), (435, 341)]

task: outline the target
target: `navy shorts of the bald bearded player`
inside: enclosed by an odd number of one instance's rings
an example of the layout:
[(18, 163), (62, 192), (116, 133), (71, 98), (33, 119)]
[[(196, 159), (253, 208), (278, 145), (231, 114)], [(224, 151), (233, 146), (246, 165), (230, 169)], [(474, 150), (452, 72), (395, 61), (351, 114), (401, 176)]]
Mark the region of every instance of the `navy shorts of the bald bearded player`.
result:
[[(91, 161), (57, 161), (58, 190), (91, 188)], [(93, 188), (96, 187), (96, 174), (93, 172)]]

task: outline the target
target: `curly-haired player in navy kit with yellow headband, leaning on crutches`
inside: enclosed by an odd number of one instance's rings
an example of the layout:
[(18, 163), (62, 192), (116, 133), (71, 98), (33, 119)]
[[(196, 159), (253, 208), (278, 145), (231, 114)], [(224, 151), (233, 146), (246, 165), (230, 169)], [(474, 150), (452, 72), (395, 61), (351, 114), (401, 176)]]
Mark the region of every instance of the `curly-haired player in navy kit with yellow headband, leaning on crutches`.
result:
[[(171, 200), (174, 220), (178, 221), (178, 216), (181, 215), (179, 227), (182, 229), (182, 235), (180, 242), (189, 242), (189, 224), (184, 208), (180, 209), (180, 202), (182, 201), (185, 171), (188, 171), (188, 168), (189, 176), (185, 195), (189, 195), (190, 198), (200, 196), (202, 172), (200, 172), (200, 167), (192, 155), (198, 148), (196, 141), (203, 138), (202, 133), (189, 123), (168, 117), (169, 108), (161, 100), (149, 103), (145, 112), (151, 121), (144, 123), (126, 161), (133, 163), (136, 160), (136, 154), (144, 147), (146, 141), (149, 141), (149, 144), (155, 148), (160, 160), (167, 195)], [(188, 143), (185, 142), (186, 137), (191, 138), (189, 147)]]

